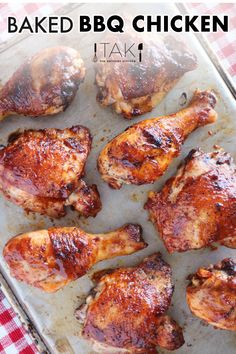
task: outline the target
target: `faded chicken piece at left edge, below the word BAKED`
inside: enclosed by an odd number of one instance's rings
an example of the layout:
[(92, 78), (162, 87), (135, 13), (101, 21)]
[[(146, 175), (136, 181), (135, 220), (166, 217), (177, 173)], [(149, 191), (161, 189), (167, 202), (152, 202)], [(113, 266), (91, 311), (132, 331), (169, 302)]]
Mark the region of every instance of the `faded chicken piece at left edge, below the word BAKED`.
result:
[(75, 49), (43, 49), (0, 90), (0, 120), (12, 114), (36, 117), (64, 111), (84, 76), (84, 62)]

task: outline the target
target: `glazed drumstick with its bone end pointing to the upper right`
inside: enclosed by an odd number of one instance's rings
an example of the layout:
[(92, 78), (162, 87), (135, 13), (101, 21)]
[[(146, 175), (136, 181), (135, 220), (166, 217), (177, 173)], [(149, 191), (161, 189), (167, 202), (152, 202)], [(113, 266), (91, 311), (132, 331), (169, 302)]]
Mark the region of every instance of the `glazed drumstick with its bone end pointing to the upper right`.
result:
[(154, 183), (179, 155), (188, 135), (216, 120), (215, 104), (213, 92), (197, 90), (187, 108), (126, 129), (99, 155), (98, 170), (103, 180), (115, 189), (123, 183)]

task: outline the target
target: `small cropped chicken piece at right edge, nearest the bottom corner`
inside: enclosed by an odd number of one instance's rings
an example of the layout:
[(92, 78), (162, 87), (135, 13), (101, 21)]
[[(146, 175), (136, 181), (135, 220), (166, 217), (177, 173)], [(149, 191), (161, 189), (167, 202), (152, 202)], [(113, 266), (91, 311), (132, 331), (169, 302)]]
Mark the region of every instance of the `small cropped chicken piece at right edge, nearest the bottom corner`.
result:
[(214, 327), (236, 331), (236, 261), (226, 258), (190, 276), (187, 303)]

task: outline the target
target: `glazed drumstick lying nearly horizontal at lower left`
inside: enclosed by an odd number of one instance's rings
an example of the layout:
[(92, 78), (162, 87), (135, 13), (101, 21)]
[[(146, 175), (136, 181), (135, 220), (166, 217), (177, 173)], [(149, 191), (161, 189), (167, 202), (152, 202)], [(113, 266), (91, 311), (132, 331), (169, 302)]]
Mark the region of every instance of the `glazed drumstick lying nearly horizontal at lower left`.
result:
[(141, 232), (141, 227), (133, 224), (106, 234), (55, 227), (13, 237), (3, 255), (13, 277), (54, 292), (82, 277), (99, 261), (145, 248)]

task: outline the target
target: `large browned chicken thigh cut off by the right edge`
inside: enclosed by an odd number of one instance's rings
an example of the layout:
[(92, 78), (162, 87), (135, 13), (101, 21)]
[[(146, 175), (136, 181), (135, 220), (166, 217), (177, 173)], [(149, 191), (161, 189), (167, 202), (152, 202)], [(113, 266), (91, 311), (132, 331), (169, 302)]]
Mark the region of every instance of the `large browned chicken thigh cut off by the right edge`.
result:
[(192, 150), (146, 209), (168, 252), (218, 242), (236, 248), (236, 167), (223, 149)]

